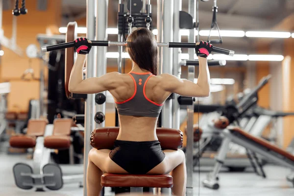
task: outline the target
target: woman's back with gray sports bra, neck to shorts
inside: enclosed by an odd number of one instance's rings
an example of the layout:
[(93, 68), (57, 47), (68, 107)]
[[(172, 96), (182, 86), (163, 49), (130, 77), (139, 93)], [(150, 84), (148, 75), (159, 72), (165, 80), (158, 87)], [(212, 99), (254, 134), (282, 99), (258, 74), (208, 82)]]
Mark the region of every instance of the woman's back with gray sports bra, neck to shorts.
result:
[(119, 74), (122, 82), (110, 90), (119, 112), (118, 140), (155, 141), (156, 126), (161, 106), (169, 93), (158, 83), (160, 78), (151, 73)]

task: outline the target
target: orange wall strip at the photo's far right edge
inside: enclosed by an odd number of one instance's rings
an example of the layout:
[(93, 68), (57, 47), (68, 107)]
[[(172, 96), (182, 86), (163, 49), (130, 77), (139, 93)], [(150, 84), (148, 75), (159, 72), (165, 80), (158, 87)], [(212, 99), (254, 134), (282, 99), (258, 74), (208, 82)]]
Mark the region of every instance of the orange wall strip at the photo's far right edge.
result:
[[(287, 39), (284, 42), (285, 58), (282, 62), (283, 78), (283, 110), (294, 111), (294, 39)], [(283, 118), (283, 147), (286, 148), (294, 138), (294, 117)]]

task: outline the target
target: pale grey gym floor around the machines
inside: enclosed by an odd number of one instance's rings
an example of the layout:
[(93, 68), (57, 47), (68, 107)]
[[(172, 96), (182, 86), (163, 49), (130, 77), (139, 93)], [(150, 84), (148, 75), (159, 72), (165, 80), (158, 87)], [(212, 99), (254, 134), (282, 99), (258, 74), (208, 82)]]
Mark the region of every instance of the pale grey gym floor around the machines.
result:
[[(83, 189), (78, 188), (78, 184), (65, 184), (59, 191), (34, 192), (33, 190), (22, 190), (16, 187), (12, 173), (12, 167), (18, 162), (31, 164), (31, 160), (26, 155), (8, 155), (7, 145), (0, 142), (0, 196), (82, 196)], [(195, 168), (197, 169), (197, 168)], [(211, 168), (201, 167), (200, 179), (205, 179)], [(220, 186), (217, 191), (200, 187), (200, 196), (294, 196), (294, 187), (286, 180), (286, 175), (290, 174), (289, 169), (279, 166), (266, 165), (266, 179), (262, 179), (255, 173), (234, 172), (220, 173)], [(194, 195), (198, 196), (198, 173), (194, 173)], [(105, 190), (105, 196), (112, 196), (110, 189)]]

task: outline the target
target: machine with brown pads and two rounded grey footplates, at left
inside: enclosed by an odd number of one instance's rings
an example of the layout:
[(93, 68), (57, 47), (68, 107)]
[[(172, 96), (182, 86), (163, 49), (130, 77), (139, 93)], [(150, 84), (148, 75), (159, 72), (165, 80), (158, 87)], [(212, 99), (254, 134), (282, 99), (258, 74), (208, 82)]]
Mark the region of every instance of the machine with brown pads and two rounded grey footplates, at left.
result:
[(69, 136), (72, 125), (72, 119), (55, 119), (53, 124), (48, 124), (46, 119), (34, 119), (29, 121), (25, 135), (10, 138), (11, 147), (35, 148), (32, 167), (25, 163), (17, 163), (13, 167), (15, 183), (19, 188), (45, 191), (61, 189), (64, 183), (80, 183), (82, 186), (83, 174), (69, 175), (67, 172), (82, 173), (82, 165), (50, 163), (51, 149), (65, 148), (70, 148), (73, 163), (73, 145)]

